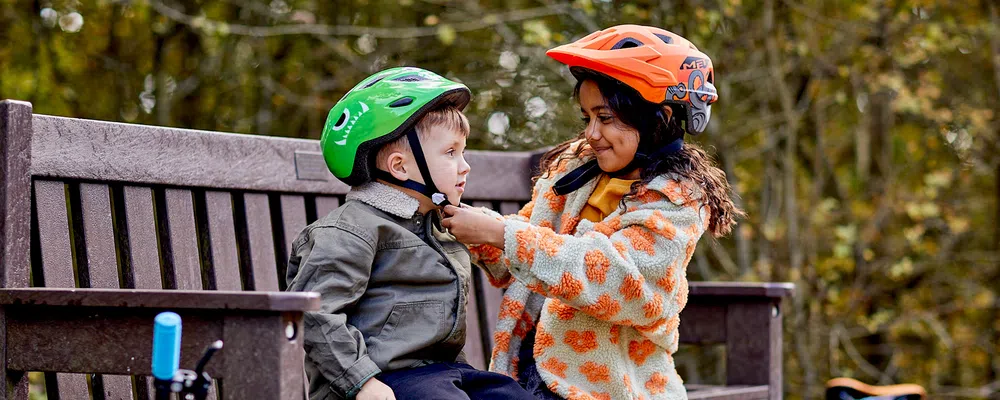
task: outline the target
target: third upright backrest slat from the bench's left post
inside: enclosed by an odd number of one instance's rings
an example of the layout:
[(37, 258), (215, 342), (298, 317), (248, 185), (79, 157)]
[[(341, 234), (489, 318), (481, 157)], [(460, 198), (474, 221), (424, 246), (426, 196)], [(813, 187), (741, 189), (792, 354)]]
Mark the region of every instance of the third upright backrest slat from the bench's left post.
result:
[(152, 189), (125, 186), (125, 223), (136, 289), (163, 287), (155, 215)]

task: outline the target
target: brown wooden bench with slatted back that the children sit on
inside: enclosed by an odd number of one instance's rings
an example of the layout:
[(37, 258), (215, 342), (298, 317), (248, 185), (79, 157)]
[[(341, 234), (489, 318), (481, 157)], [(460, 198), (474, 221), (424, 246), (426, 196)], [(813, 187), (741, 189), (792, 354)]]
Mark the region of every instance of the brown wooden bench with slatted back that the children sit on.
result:
[[(464, 200), (530, 199), (537, 154), (472, 151)], [(204, 346), (213, 398), (301, 398), (298, 332), (315, 294), (283, 293), (291, 240), (348, 187), (318, 142), (35, 115), (0, 102), (0, 399), (149, 398), (152, 317), (184, 318), (182, 366)], [(484, 368), (501, 291), (474, 274), (466, 355)], [(780, 399), (790, 284), (693, 282), (681, 342), (724, 344), (726, 386), (690, 398)]]

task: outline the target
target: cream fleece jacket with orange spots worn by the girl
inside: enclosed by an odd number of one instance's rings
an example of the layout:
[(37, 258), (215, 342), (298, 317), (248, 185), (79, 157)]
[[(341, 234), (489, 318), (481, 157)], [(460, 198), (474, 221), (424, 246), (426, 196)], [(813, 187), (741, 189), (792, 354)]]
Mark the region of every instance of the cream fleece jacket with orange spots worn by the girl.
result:
[(552, 191), (586, 161), (559, 162), (518, 215), (502, 217), (503, 250), (471, 249), (490, 282), (507, 288), (490, 370), (516, 379), (521, 341), (537, 329), (539, 374), (564, 398), (686, 399), (672, 355), (685, 271), (708, 224), (702, 191), (663, 175), (593, 223), (579, 215), (596, 179), (565, 196)]

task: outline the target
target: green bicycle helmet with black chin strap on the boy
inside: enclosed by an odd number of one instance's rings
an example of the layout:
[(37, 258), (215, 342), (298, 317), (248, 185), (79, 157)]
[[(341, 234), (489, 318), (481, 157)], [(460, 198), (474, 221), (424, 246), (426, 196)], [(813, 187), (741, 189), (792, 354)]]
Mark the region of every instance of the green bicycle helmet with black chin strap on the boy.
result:
[[(444, 106), (459, 110), (469, 104), (472, 92), (421, 68), (399, 67), (365, 78), (330, 109), (320, 147), (333, 175), (344, 183), (358, 186), (374, 178), (414, 189), (431, 197), (435, 204), (447, 200), (434, 186), (427, 169), (420, 140), (414, 127), (428, 111)], [(407, 135), (424, 184), (399, 181), (375, 168), (375, 153), (386, 143)], [(435, 196), (437, 194), (437, 196)]]

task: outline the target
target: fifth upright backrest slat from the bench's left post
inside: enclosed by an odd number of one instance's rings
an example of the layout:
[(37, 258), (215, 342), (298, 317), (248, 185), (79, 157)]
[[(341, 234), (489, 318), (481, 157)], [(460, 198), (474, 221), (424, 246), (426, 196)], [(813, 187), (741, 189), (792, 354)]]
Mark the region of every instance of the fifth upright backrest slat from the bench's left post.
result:
[(208, 208), (208, 236), (212, 247), (212, 266), (218, 290), (240, 290), (240, 260), (233, 225), (233, 197), (229, 192), (205, 192)]

